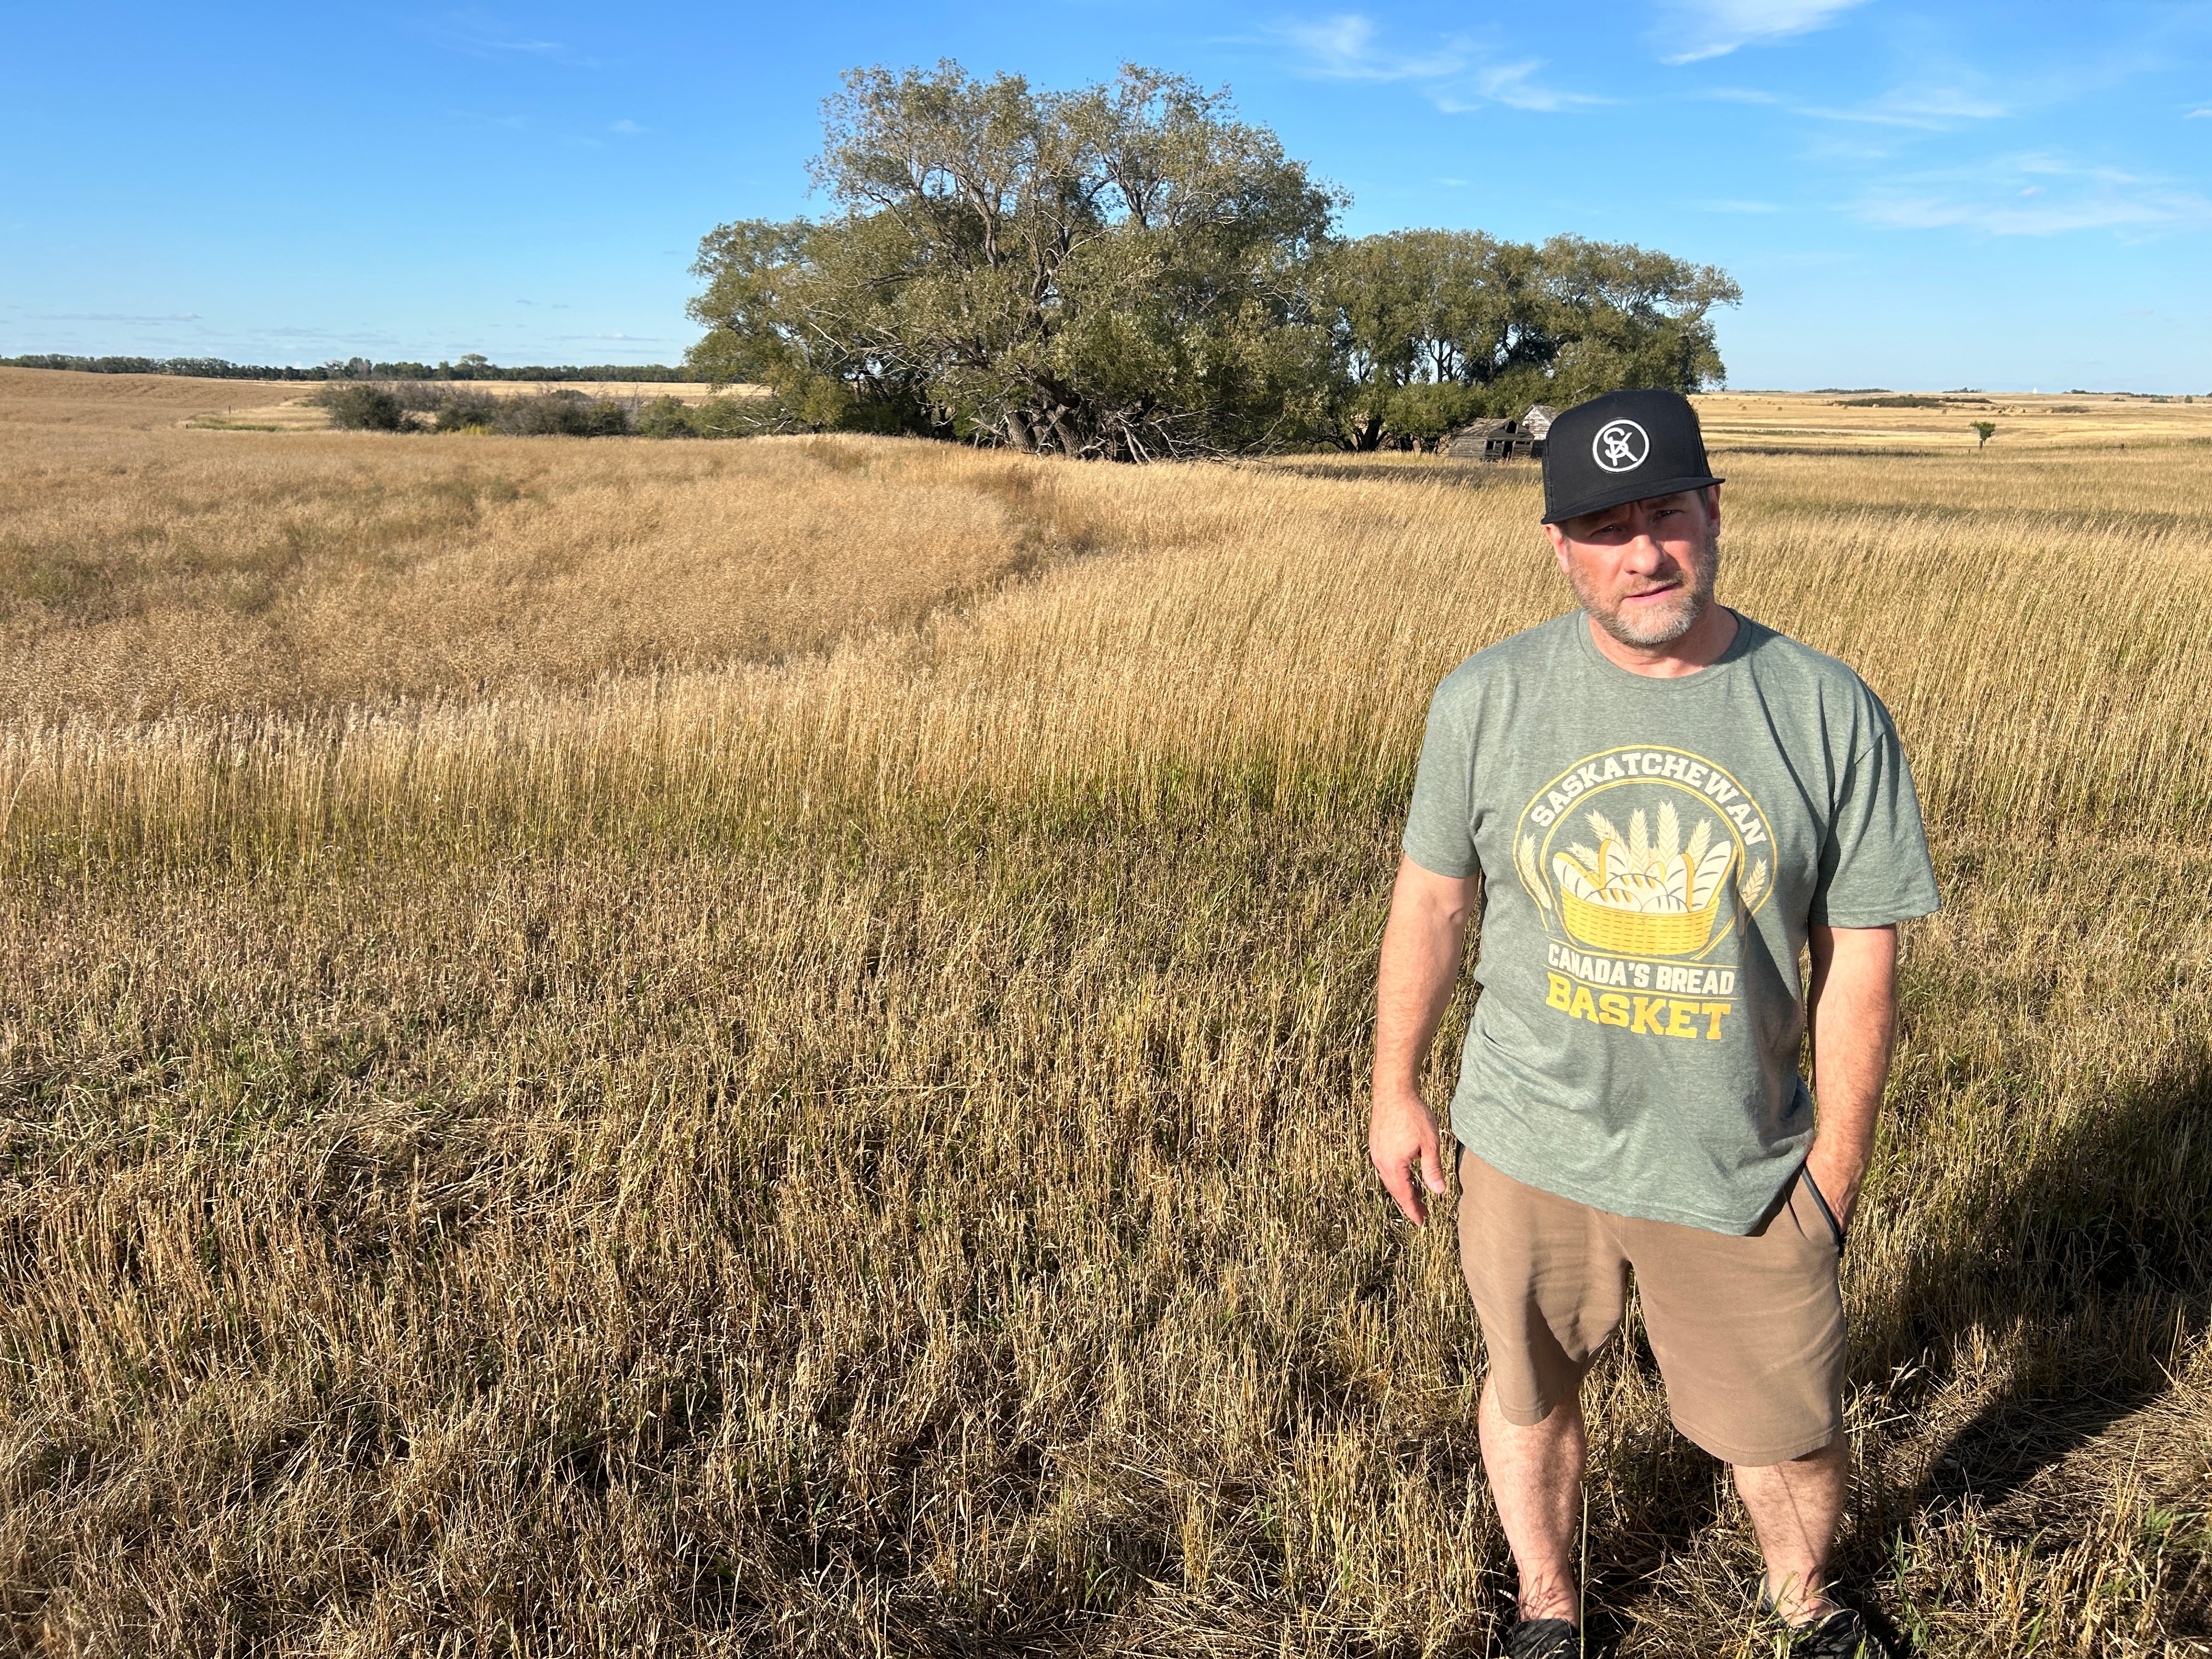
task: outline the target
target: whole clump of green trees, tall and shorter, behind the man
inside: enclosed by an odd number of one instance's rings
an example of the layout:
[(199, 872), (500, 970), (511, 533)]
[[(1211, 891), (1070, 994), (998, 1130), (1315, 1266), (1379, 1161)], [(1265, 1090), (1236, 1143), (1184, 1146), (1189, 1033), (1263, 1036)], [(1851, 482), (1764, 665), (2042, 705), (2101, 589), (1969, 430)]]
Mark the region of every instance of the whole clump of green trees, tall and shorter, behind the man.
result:
[(699, 246), (690, 369), (759, 431), (909, 431), (1144, 460), (1433, 442), (1473, 416), (1723, 383), (1721, 270), (1626, 243), (1336, 234), (1340, 192), (1225, 95), (852, 71), (830, 219)]

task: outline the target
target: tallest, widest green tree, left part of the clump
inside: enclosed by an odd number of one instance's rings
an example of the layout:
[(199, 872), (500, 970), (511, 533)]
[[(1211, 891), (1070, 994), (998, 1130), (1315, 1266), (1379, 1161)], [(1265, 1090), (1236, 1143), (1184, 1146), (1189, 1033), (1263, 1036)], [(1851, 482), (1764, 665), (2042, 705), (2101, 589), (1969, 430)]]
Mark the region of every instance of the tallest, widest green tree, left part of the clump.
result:
[(814, 168), (838, 217), (721, 226), (697, 265), (690, 361), (774, 420), (1115, 458), (1325, 420), (1334, 199), (1221, 95), (852, 71)]

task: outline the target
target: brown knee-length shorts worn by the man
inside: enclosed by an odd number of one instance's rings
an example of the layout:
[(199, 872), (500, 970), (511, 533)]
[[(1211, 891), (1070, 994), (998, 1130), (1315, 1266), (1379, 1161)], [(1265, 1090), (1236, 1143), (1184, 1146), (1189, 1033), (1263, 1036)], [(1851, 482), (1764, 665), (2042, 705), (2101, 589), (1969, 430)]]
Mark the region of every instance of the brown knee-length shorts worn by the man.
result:
[(1635, 1267), (1674, 1427), (1732, 1464), (1818, 1451), (1843, 1431), (1840, 1254), (1812, 1177), (1739, 1239), (1606, 1214), (1460, 1155), (1460, 1267), (1493, 1396), (1522, 1427), (1577, 1396)]

